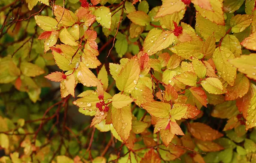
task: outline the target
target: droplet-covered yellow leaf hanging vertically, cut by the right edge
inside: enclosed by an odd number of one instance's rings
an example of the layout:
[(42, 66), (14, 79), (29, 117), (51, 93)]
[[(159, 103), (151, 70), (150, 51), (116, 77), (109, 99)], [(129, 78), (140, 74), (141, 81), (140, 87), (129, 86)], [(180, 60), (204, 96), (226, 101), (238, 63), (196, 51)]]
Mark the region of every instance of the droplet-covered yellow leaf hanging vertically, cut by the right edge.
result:
[(253, 94), (252, 99), (250, 100), (250, 106), (247, 110), (246, 117), (246, 130), (256, 126), (256, 86), (251, 84), (251, 91)]

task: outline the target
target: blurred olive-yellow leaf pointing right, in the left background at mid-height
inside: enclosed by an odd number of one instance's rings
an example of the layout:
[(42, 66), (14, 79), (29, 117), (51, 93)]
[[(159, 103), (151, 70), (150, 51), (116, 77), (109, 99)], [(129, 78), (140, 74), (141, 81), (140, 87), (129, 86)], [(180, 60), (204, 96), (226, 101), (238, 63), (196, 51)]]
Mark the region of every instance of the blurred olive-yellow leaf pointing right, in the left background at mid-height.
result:
[(38, 76), (42, 75), (45, 71), (37, 66), (36, 64), (29, 63), (29, 62), (21, 62), (21, 73), (26, 76)]

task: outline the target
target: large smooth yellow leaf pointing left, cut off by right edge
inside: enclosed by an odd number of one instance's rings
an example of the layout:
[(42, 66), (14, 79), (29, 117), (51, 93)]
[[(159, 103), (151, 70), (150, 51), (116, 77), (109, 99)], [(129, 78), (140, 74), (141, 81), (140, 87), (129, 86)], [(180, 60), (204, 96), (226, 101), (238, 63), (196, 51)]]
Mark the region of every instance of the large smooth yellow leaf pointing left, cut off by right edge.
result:
[(241, 55), (229, 62), (238, 68), (238, 71), (247, 75), (248, 78), (256, 79), (256, 54)]

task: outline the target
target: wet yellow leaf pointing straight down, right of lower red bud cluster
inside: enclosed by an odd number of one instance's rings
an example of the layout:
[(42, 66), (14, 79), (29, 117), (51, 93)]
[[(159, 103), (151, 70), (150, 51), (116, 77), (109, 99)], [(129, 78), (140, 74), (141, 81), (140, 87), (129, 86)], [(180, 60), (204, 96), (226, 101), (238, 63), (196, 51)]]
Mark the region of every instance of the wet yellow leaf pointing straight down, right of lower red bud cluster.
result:
[(125, 106), (122, 109), (112, 108), (111, 118), (113, 127), (126, 143), (131, 132), (131, 106)]

